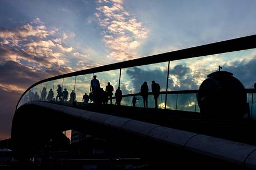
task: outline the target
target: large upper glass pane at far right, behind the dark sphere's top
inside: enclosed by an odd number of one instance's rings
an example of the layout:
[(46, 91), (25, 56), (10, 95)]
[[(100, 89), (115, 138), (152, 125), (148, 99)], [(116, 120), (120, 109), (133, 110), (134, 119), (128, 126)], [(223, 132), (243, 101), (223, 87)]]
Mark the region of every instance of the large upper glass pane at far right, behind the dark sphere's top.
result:
[(170, 61), (168, 90), (197, 90), (211, 72), (229, 71), (245, 88), (253, 88), (256, 48)]

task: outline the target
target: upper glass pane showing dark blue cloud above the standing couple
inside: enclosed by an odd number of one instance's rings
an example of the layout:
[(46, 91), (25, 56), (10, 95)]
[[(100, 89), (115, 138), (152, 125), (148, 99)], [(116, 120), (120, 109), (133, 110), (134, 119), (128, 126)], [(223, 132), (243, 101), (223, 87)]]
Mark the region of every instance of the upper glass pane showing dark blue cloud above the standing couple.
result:
[(154, 80), (160, 85), (160, 91), (165, 91), (167, 83), (168, 62), (150, 64), (122, 69), (120, 88), (125, 94), (139, 93), (144, 81), (151, 91), (151, 82)]

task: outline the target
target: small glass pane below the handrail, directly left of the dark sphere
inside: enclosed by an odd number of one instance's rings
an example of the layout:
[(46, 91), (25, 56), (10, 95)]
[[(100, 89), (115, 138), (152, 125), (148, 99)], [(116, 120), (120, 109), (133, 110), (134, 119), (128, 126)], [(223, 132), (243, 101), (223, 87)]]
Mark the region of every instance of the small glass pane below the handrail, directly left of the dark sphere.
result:
[(196, 94), (178, 94), (177, 110), (195, 111)]

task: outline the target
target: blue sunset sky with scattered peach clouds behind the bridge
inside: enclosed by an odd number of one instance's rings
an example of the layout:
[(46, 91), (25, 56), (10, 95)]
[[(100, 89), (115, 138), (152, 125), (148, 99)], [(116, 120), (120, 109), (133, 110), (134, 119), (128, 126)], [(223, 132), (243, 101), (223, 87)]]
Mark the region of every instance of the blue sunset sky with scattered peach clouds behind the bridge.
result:
[[(17, 101), (35, 82), (254, 35), (255, 8), (254, 0), (1, 0), (0, 140), (11, 137)], [(172, 62), (168, 88), (196, 89), (220, 64), (250, 88), (256, 79), (251, 77), (256, 74), (255, 55), (255, 50), (247, 50)], [(141, 82), (135, 72), (159, 82), (165, 70), (166, 63), (128, 68), (122, 72), (121, 88), (125, 93), (138, 92)]]

